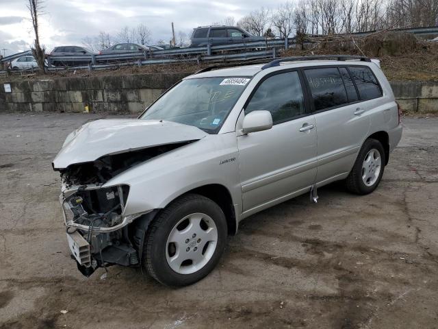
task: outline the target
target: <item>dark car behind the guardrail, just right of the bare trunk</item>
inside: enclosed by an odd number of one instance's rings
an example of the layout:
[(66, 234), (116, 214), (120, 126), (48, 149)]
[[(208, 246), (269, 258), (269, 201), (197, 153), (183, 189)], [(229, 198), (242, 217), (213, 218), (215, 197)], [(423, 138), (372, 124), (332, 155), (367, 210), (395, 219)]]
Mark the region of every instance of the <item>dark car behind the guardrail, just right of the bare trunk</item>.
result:
[[(94, 53), (90, 49), (78, 46), (55, 47), (50, 53), (50, 56), (55, 58), (51, 61), (55, 66), (87, 65), (92, 61), (92, 55)], [(72, 56), (75, 58), (72, 59)]]

